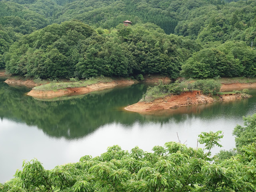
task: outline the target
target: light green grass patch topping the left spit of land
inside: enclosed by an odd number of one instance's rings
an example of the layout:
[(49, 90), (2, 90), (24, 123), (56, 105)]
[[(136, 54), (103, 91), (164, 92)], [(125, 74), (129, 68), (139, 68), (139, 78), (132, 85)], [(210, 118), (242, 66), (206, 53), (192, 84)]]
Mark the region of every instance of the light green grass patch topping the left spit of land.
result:
[(81, 80), (78, 82), (50, 82), (48, 84), (36, 86), (33, 90), (37, 91), (57, 91), (66, 88), (78, 88), (78, 87), (86, 87), (88, 85), (96, 84), (96, 83), (106, 83), (112, 82), (113, 79), (110, 77), (96, 77), (89, 78), (88, 80)]

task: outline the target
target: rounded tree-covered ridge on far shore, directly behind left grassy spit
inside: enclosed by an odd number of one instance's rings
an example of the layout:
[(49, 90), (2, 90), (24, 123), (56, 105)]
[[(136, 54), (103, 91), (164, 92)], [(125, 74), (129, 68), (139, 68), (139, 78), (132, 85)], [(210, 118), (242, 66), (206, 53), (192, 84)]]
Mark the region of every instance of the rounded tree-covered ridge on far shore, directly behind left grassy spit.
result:
[(181, 64), (200, 50), (194, 40), (166, 35), (154, 24), (94, 30), (72, 20), (22, 36), (5, 53), (6, 72), (34, 78), (89, 78), (138, 74), (180, 75)]

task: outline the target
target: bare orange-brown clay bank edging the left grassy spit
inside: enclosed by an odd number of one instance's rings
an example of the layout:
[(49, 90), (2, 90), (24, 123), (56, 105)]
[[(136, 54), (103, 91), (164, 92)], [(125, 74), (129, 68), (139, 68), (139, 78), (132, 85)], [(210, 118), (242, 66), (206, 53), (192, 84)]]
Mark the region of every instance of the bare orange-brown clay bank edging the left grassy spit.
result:
[(57, 91), (52, 91), (52, 90), (39, 91), (39, 90), (32, 89), (30, 92), (28, 92), (28, 95), (35, 98), (40, 98), (40, 99), (44, 99), (44, 98), (52, 99), (52, 98), (61, 97), (61, 96), (86, 94), (93, 91), (113, 88), (119, 85), (131, 85), (134, 83), (135, 82), (133, 80), (120, 79), (120, 80), (114, 80), (112, 82), (106, 82), (106, 83), (100, 82), (97, 84), (88, 85), (86, 87), (66, 88), (64, 90), (57, 90)]

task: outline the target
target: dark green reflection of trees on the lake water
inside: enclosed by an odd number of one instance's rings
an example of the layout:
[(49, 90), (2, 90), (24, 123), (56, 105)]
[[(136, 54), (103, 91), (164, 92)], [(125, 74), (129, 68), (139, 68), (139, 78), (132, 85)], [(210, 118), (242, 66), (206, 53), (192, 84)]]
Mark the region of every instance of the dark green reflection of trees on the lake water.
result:
[[(24, 95), (26, 88), (13, 88), (0, 82), (0, 118), (25, 122), (42, 129), (49, 136), (79, 138), (104, 124), (118, 122), (131, 126), (151, 122), (184, 122), (188, 118), (214, 118), (219, 115), (239, 116), (253, 107), (248, 99), (201, 104), (138, 114), (122, 110), (138, 102), (146, 86), (136, 84), (78, 96), (69, 100), (40, 101)], [(251, 100), (252, 98), (250, 98)], [(255, 100), (254, 100), (255, 102)], [(184, 115), (186, 114), (186, 115)], [(241, 115), (242, 114), (242, 115)]]

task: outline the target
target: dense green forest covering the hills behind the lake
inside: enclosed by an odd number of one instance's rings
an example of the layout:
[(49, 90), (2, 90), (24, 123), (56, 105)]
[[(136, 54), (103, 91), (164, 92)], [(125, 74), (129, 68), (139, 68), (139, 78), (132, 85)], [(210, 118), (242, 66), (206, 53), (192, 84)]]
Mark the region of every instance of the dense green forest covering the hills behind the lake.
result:
[(45, 79), (253, 77), (255, 25), (256, 0), (2, 0), (0, 68)]

